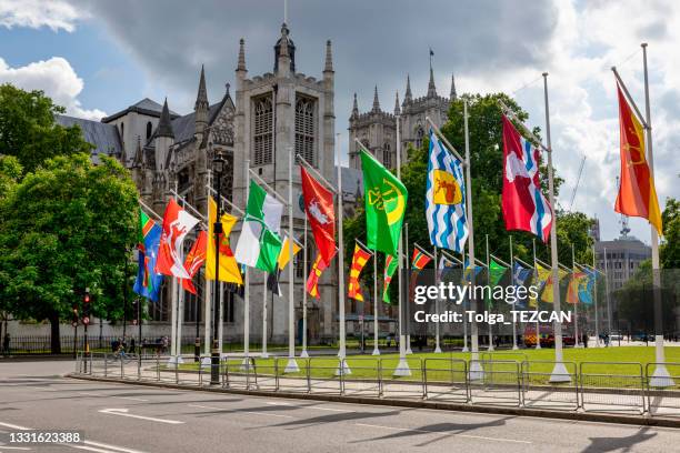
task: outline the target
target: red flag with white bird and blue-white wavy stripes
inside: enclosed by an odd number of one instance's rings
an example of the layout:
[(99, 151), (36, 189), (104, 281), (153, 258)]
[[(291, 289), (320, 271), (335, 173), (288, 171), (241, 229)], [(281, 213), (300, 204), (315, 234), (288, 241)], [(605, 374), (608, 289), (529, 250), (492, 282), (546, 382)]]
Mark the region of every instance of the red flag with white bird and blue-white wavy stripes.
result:
[(552, 208), (541, 192), (539, 150), (503, 115), (503, 193), (506, 230), (522, 230), (548, 242)]

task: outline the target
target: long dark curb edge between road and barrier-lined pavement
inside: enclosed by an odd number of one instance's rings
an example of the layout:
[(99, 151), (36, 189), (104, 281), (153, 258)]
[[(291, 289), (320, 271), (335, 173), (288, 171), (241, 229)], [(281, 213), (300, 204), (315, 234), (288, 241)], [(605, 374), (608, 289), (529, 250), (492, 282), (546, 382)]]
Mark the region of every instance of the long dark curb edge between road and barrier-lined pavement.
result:
[(539, 419), (556, 419), (556, 420), (573, 420), (581, 422), (600, 422), (600, 423), (617, 423), (617, 424), (629, 424), (629, 425), (643, 425), (643, 426), (661, 426), (661, 427), (676, 427), (680, 429), (680, 419), (668, 419), (668, 417), (652, 417), (652, 416), (634, 416), (634, 415), (621, 415), (621, 414), (609, 414), (609, 413), (596, 413), (596, 412), (572, 412), (572, 411), (551, 411), (547, 409), (529, 409), (529, 407), (508, 407), (498, 405), (472, 405), (463, 403), (443, 403), (427, 400), (394, 400), (394, 399), (377, 399), (366, 396), (344, 396), (344, 395), (328, 395), (328, 394), (314, 394), (314, 393), (294, 393), (294, 392), (270, 392), (263, 390), (244, 390), (244, 389), (222, 389), (219, 387), (207, 387), (196, 385), (181, 385), (171, 384), (164, 382), (149, 382), (149, 381), (128, 381), (111, 378), (99, 378), (99, 376), (83, 376), (80, 374), (67, 374), (66, 378), (78, 379), (83, 381), (99, 381), (99, 382), (114, 382), (122, 384), (132, 385), (144, 385), (160, 389), (174, 389), (174, 390), (193, 390), (199, 392), (217, 392), (217, 393), (230, 393), (252, 396), (267, 396), (267, 397), (282, 397), (282, 399), (296, 399), (296, 400), (314, 400), (314, 401), (327, 401), (337, 403), (352, 403), (352, 404), (370, 404), (370, 405), (383, 405), (383, 406), (396, 406), (396, 407), (411, 407), (411, 409), (433, 409), (441, 411), (457, 411), (457, 412), (476, 412), (482, 414), (501, 414), (501, 415), (519, 415), (519, 416), (533, 416)]

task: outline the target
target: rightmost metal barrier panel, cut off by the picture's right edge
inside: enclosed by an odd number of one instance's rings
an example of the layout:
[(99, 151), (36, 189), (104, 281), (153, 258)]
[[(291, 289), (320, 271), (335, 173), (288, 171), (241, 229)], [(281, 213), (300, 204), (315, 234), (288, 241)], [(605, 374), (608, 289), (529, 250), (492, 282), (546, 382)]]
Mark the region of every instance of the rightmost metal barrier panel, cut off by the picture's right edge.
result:
[[(654, 371), (661, 364), (666, 366), (669, 375), (654, 378)], [(680, 415), (680, 362), (648, 363), (644, 376), (649, 413), (651, 415)]]

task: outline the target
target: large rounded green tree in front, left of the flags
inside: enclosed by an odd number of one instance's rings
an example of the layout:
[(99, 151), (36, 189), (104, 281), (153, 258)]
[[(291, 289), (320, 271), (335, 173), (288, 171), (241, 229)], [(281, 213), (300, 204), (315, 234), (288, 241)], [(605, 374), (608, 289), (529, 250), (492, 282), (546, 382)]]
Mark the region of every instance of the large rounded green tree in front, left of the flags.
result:
[(18, 319), (59, 322), (86, 288), (92, 314), (122, 311), (124, 265), (137, 238), (137, 190), (110, 158), (57, 157), (27, 173), (0, 205), (0, 296)]

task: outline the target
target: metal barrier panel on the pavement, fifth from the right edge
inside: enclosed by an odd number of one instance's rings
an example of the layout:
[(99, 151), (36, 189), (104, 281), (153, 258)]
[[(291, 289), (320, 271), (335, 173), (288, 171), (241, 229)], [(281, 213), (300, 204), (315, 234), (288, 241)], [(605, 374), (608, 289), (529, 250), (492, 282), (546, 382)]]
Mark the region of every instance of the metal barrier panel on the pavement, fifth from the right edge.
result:
[(470, 401), (468, 363), (461, 359), (426, 359), (422, 369), (426, 397)]

